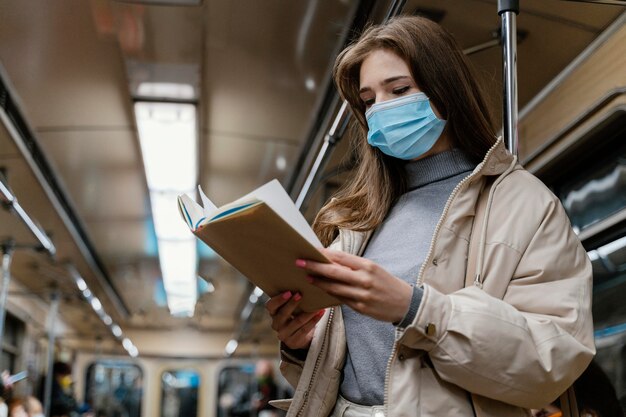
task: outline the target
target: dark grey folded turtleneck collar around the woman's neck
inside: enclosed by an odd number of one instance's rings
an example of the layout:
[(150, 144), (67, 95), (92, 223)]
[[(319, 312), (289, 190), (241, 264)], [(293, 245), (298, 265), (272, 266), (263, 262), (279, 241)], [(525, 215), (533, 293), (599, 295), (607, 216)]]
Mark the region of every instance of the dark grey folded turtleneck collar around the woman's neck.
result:
[(441, 181), (476, 167), (460, 149), (443, 151), (405, 165), (408, 190)]

